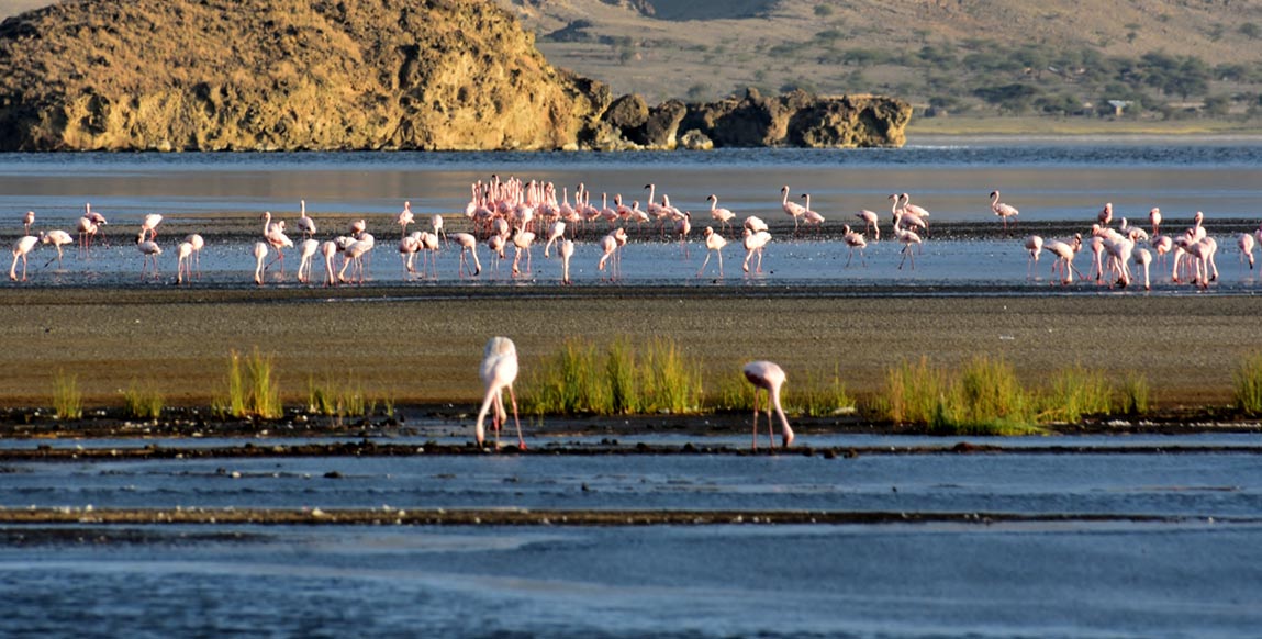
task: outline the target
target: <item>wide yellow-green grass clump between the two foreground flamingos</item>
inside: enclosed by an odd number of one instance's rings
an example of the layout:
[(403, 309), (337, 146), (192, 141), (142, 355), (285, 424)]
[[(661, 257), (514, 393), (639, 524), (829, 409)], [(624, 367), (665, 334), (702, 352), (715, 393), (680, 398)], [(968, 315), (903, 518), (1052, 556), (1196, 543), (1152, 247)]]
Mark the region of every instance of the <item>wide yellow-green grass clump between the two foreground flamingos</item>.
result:
[(615, 339), (603, 353), (569, 338), (522, 384), (526, 412), (641, 415), (690, 412), (700, 405), (700, 367), (670, 339)]

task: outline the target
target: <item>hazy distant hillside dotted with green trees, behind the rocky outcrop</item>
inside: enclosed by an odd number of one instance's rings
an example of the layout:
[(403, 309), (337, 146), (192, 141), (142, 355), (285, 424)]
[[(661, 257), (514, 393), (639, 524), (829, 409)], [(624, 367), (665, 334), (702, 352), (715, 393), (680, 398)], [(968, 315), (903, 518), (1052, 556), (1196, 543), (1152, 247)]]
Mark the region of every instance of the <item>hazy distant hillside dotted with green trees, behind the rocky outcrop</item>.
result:
[(803, 87), (930, 115), (1113, 100), (1177, 118), (1244, 116), (1262, 93), (1262, 0), (498, 1), (553, 64), (650, 100)]

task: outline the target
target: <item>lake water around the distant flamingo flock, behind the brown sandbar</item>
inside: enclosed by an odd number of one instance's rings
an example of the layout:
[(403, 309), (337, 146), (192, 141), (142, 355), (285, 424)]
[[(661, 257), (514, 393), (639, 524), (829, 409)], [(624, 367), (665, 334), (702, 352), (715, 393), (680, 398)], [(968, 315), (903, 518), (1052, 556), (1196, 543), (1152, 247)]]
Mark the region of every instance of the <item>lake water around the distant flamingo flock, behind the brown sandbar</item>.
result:
[[(721, 150), (713, 153), (545, 153), (545, 154), (30, 154), (0, 156), (0, 233), (20, 234), (20, 217), (37, 212), (35, 229), (73, 224), (85, 203), (110, 219), (103, 232), (109, 246), (88, 257), (67, 248), (67, 260), (57, 270), (44, 247), (33, 253), (33, 285), (124, 285), (134, 286), (141, 256), (133, 246), (140, 219), (148, 213), (165, 217), (159, 245), (158, 279), (170, 282), (175, 271), (175, 245), (186, 233), (207, 236), (201, 286), (250, 286), (255, 266), (252, 246), (261, 239), (259, 217), (270, 210), (290, 223), (305, 199), (308, 213), (321, 226), (321, 239), (346, 233), (351, 219), (365, 218), (377, 237), (370, 253), (372, 284), (419, 284), (408, 277), (396, 253), (395, 214), (410, 200), (419, 219), (442, 213), (448, 231), (467, 231), (458, 212), (468, 200), (469, 185), (492, 174), (516, 175), (554, 183), (570, 190), (583, 183), (597, 194), (623, 194), (626, 200), (644, 200), (645, 184), (656, 194), (669, 194), (671, 203), (694, 213), (690, 242), (661, 239), (651, 228), (632, 228), (631, 243), (622, 251), (621, 282), (652, 286), (661, 284), (810, 286), (867, 285), (909, 286), (914, 291), (965, 286), (1006, 286), (1045, 292), (1050, 284), (1050, 253), (1044, 253), (1030, 271), (1021, 238), (1030, 232), (1068, 237), (1089, 233), (1095, 213), (1112, 202), (1117, 218), (1128, 217), (1148, 227), (1147, 212), (1160, 207), (1167, 232), (1191, 223), (1195, 212), (1206, 216), (1205, 226), (1218, 239), (1220, 281), (1214, 290), (1251, 291), (1257, 271), (1242, 266), (1235, 236), (1258, 226), (1257, 203), (1262, 202), (1262, 142), (1205, 144), (1056, 144), (1031, 141), (1021, 145), (943, 144), (906, 149), (868, 150)], [(794, 199), (811, 194), (811, 208), (825, 217), (824, 233), (795, 234), (791, 219), (780, 210), (780, 187), (790, 185)], [(989, 210), (988, 193), (1000, 189), (1003, 200), (1021, 209), (1018, 229), (1000, 232)], [(891, 237), (890, 193), (909, 192), (914, 202), (929, 208), (930, 233), (915, 268), (904, 261), (901, 246), (875, 242), (870, 233), (866, 260), (853, 262), (839, 241), (842, 223), (857, 222), (853, 214), (871, 209), (882, 214), (883, 238)], [(705, 198), (716, 194), (737, 219), (760, 216), (772, 224), (774, 241), (766, 251), (764, 272), (745, 273), (745, 251), (729, 233), (724, 250), (724, 279), (717, 279), (714, 260), (704, 277), (697, 277), (705, 257), (700, 231), (714, 224)], [(1117, 224), (1118, 222), (1114, 222)], [(940, 224), (943, 232), (934, 233)], [(1025, 228), (1022, 228), (1025, 227)], [(293, 227), (290, 227), (292, 229)], [(428, 226), (413, 227), (428, 228)], [(594, 238), (607, 228), (589, 226), (578, 242), (573, 277), (578, 285), (606, 284), (607, 272), (596, 268), (599, 248)], [(290, 234), (294, 236), (293, 231)], [(533, 250), (531, 267), (511, 277), (507, 265), (490, 258), (480, 247), (487, 271), (478, 279), (461, 280), (457, 251), (439, 253), (437, 275), (424, 281), (464, 281), (485, 286), (512, 281), (516, 285), (555, 285), (560, 265), (544, 260), (543, 241)], [(1090, 272), (1090, 255), (1079, 255), (1076, 266)], [(512, 258), (512, 250), (509, 250)], [(285, 272), (279, 265), (268, 284), (297, 285), (298, 256), (290, 252)], [(905, 263), (904, 263), (905, 262)], [(899, 268), (900, 263), (902, 268)], [(522, 262), (522, 267), (525, 263)], [(339, 263), (334, 265), (339, 270)], [(1188, 290), (1170, 285), (1169, 265), (1153, 265), (1157, 292)], [(1097, 291), (1079, 286), (1075, 291)]]

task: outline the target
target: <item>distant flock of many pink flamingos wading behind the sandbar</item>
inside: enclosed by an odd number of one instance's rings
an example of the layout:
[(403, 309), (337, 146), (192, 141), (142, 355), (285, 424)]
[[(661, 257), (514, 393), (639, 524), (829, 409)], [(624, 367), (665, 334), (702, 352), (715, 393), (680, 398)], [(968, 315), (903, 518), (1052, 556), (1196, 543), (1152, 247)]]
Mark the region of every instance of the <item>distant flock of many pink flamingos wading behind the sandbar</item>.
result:
[[(646, 184), (645, 190), (647, 190), (646, 202), (649, 204), (644, 209), (640, 208), (639, 202), (634, 202), (630, 207), (626, 205), (621, 194), (615, 195), (611, 203), (607, 194), (602, 193), (599, 205), (596, 205), (592, 202), (593, 193), (583, 184), (577, 187), (573, 202), (570, 202), (568, 188), (563, 188), (558, 198), (557, 189), (551, 183), (536, 180), (528, 183), (515, 178), (500, 180), (492, 175), (488, 181), (480, 180), (471, 185), (471, 198), (463, 212), (471, 232), (451, 234), (443, 228), (444, 217), (442, 214), (434, 214), (430, 218), (430, 229), (409, 233), (408, 227), (416, 224), (418, 221), (411, 212), (410, 203), (405, 202), (403, 212), (395, 221), (400, 227), (401, 239), (398, 242), (398, 251), (405, 277), (410, 280), (418, 276), (415, 262), (419, 255), (422, 262), (419, 276), (437, 279), (438, 252), (448, 242), (454, 242), (461, 250), (457, 270), (459, 277), (477, 277), (482, 272), (482, 262), (478, 260), (480, 245), (490, 251), (495, 271), (498, 271), (500, 263), (507, 260), (506, 251), (511, 246), (514, 248), (511, 270), (512, 276), (516, 277), (522, 272), (531, 272), (531, 247), (541, 239), (545, 257), (550, 257), (555, 247), (562, 262), (560, 281), (568, 285), (572, 282), (573, 238), (582, 229), (594, 228), (608, 229), (608, 233), (596, 242), (599, 248), (597, 271), (602, 273), (602, 279), (617, 280), (621, 277), (621, 251), (628, 242), (630, 228), (635, 227), (640, 236), (644, 234), (645, 227), (650, 227), (650, 231), (661, 238), (666, 238), (669, 234), (678, 239), (685, 251), (689, 234), (693, 231), (694, 221), (690, 212), (671, 205), (670, 197), (666, 194), (663, 194), (659, 202), (655, 198), (656, 188), (652, 184)], [(823, 227), (824, 217), (810, 208), (809, 194), (803, 194), (799, 198), (803, 200), (800, 204), (790, 199), (787, 185), (780, 189), (780, 194), (781, 209), (793, 218), (795, 234), (803, 229), (818, 232)], [(997, 190), (991, 192), (989, 197), (991, 210), (1003, 223), (1003, 228), (1007, 229), (1010, 222), (1015, 227), (1018, 210), (1000, 202), (1000, 192)], [(929, 229), (930, 213), (923, 207), (912, 204), (907, 193), (892, 194), (888, 199), (892, 203), (888, 216), (892, 222), (893, 239), (902, 245), (899, 268), (901, 270), (907, 262), (910, 262), (911, 268), (915, 268), (914, 247), (923, 246)], [(707, 200), (711, 205), (709, 218), (713, 223), (705, 226), (702, 233), (707, 252), (697, 276), (700, 277), (707, 272), (711, 257), (717, 257), (717, 273), (722, 277), (723, 250), (728, 243), (724, 236), (734, 232), (736, 213), (719, 207), (717, 195), (711, 195)], [(849, 250), (847, 267), (851, 265), (856, 250), (859, 251), (861, 260), (866, 261), (863, 250), (868, 245), (868, 233), (871, 233), (872, 241), (880, 241), (881, 217), (876, 212), (864, 209), (854, 214), (856, 228), (851, 228), (849, 224), (842, 226), (842, 239)], [(1166, 260), (1167, 253), (1171, 255), (1172, 282), (1208, 287), (1218, 279), (1218, 266), (1214, 261), (1218, 242), (1206, 233), (1203, 226), (1204, 216), (1200, 212), (1195, 214), (1194, 224), (1190, 228), (1172, 234), (1161, 233), (1162, 217), (1159, 208), (1153, 208), (1148, 213), (1151, 234), (1145, 228), (1128, 224), (1126, 218), (1118, 221), (1117, 228), (1112, 226), (1113, 221), (1113, 207), (1106, 204), (1087, 238), (1083, 237), (1083, 233), (1060, 239), (1044, 239), (1039, 236), (1025, 237), (1022, 242), (1030, 255), (1027, 277), (1032, 277), (1036, 262), (1039, 262), (1041, 253), (1047, 251), (1054, 256), (1051, 273), (1056, 281), (1064, 285), (1070, 284), (1076, 273), (1083, 280), (1127, 287), (1137, 282), (1142, 275), (1143, 287), (1151, 289), (1150, 268), (1155, 260), (1161, 267), (1160, 262)], [(13, 245), (13, 265), (9, 268), (9, 279), (14, 281), (27, 281), (28, 256), (37, 246), (52, 245), (57, 250), (57, 256), (49, 258), (44, 266), (49, 266), (56, 260), (61, 267), (63, 247), (76, 242), (74, 237), (62, 229), (32, 234), (32, 227), (35, 223), (34, 212), (28, 212), (23, 223), (25, 233)], [(163, 253), (162, 246), (156, 242), (160, 223), (160, 214), (146, 214), (135, 236), (135, 246), (143, 258), (141, 279), (149, 272), (153, 275), (158, 272), (158, 257)], [(863, 226), (862, 231), (858, 229), (859, 224)], [(91, 204), (87, 204), (77, 224), (81, 255), (87, 255), (91, 251), (93, 238), (103, 231), (105, 226), (105, 217), (92, 210)], [(718, 227), (717, 231), (716, 227)], [(293, 250), (299, 256), (297, 275), (299, 282), (313, 282), (312, 268), (318, 260), (323, 261), (323, 277), (317, 277), (316, 281), (322, 280), (326, 286), (362, 284), (365, 281), (365, 258), (376, 247), (376, 239), (367, 232), (367, 224), (363, 219), (352, 222), (346, 234), (322, 242), (314, 238), (316, 222), (307, 214), (304, 200), (293, 229), (300, 234), (300, 239), (297, 242), (286, 234), (285, 221), (273, 219), (270, 212), (262, 216), (261, 236), (252, 250), (255, 258), (254, 281), (256, 284), (264, 284), (266, 271), (278, 261), (281, 273), (284, 272), (286, 250)], [(762, 252), (772, 238), (767, 223), (756, 216), (747, 216), (741, 222), (738, 237), (745, 250), (742, 270), (750, 272), (752, 268), (753, 272), (761, 272)], [(1262, 228), (1253, 233), (1241, 233), (1235, 239), (1242, 258), (1247, 258), (1252, 268), (1253, 248), (1262, 242)], [(204, 246), (206, 241), (197, 233), (187, 236), (177, 245), (177, 284), (186, 284), (193, 279), (194, 265), (199, 272), (199, 257)], [(1089, 247), (1092, 255), (1092, 273), (1089, 276), (1084, 276), (1074, 265), (1074, 257), (1084, 246)], [(275, 255), (269, 261), (268, 256), (273, 252)], [(526, 261), (525, 271), (522, 271), (521, 265), (522, 256)], [(21, 262), (20, 277), (18, 275), (19, 261)], [(337, 266), (338, 261), (339, 266)]]

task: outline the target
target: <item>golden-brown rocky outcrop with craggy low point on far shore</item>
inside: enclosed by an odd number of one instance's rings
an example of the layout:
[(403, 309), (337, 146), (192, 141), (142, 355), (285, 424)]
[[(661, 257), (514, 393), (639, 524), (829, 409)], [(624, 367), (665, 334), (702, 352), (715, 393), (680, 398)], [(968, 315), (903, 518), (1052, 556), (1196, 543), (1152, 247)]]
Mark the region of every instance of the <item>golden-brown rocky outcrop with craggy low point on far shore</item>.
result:
[(0, 24), (0, 150), (897, 146), (910, 107), (650, 107), (486, 0), (82, 0)]

